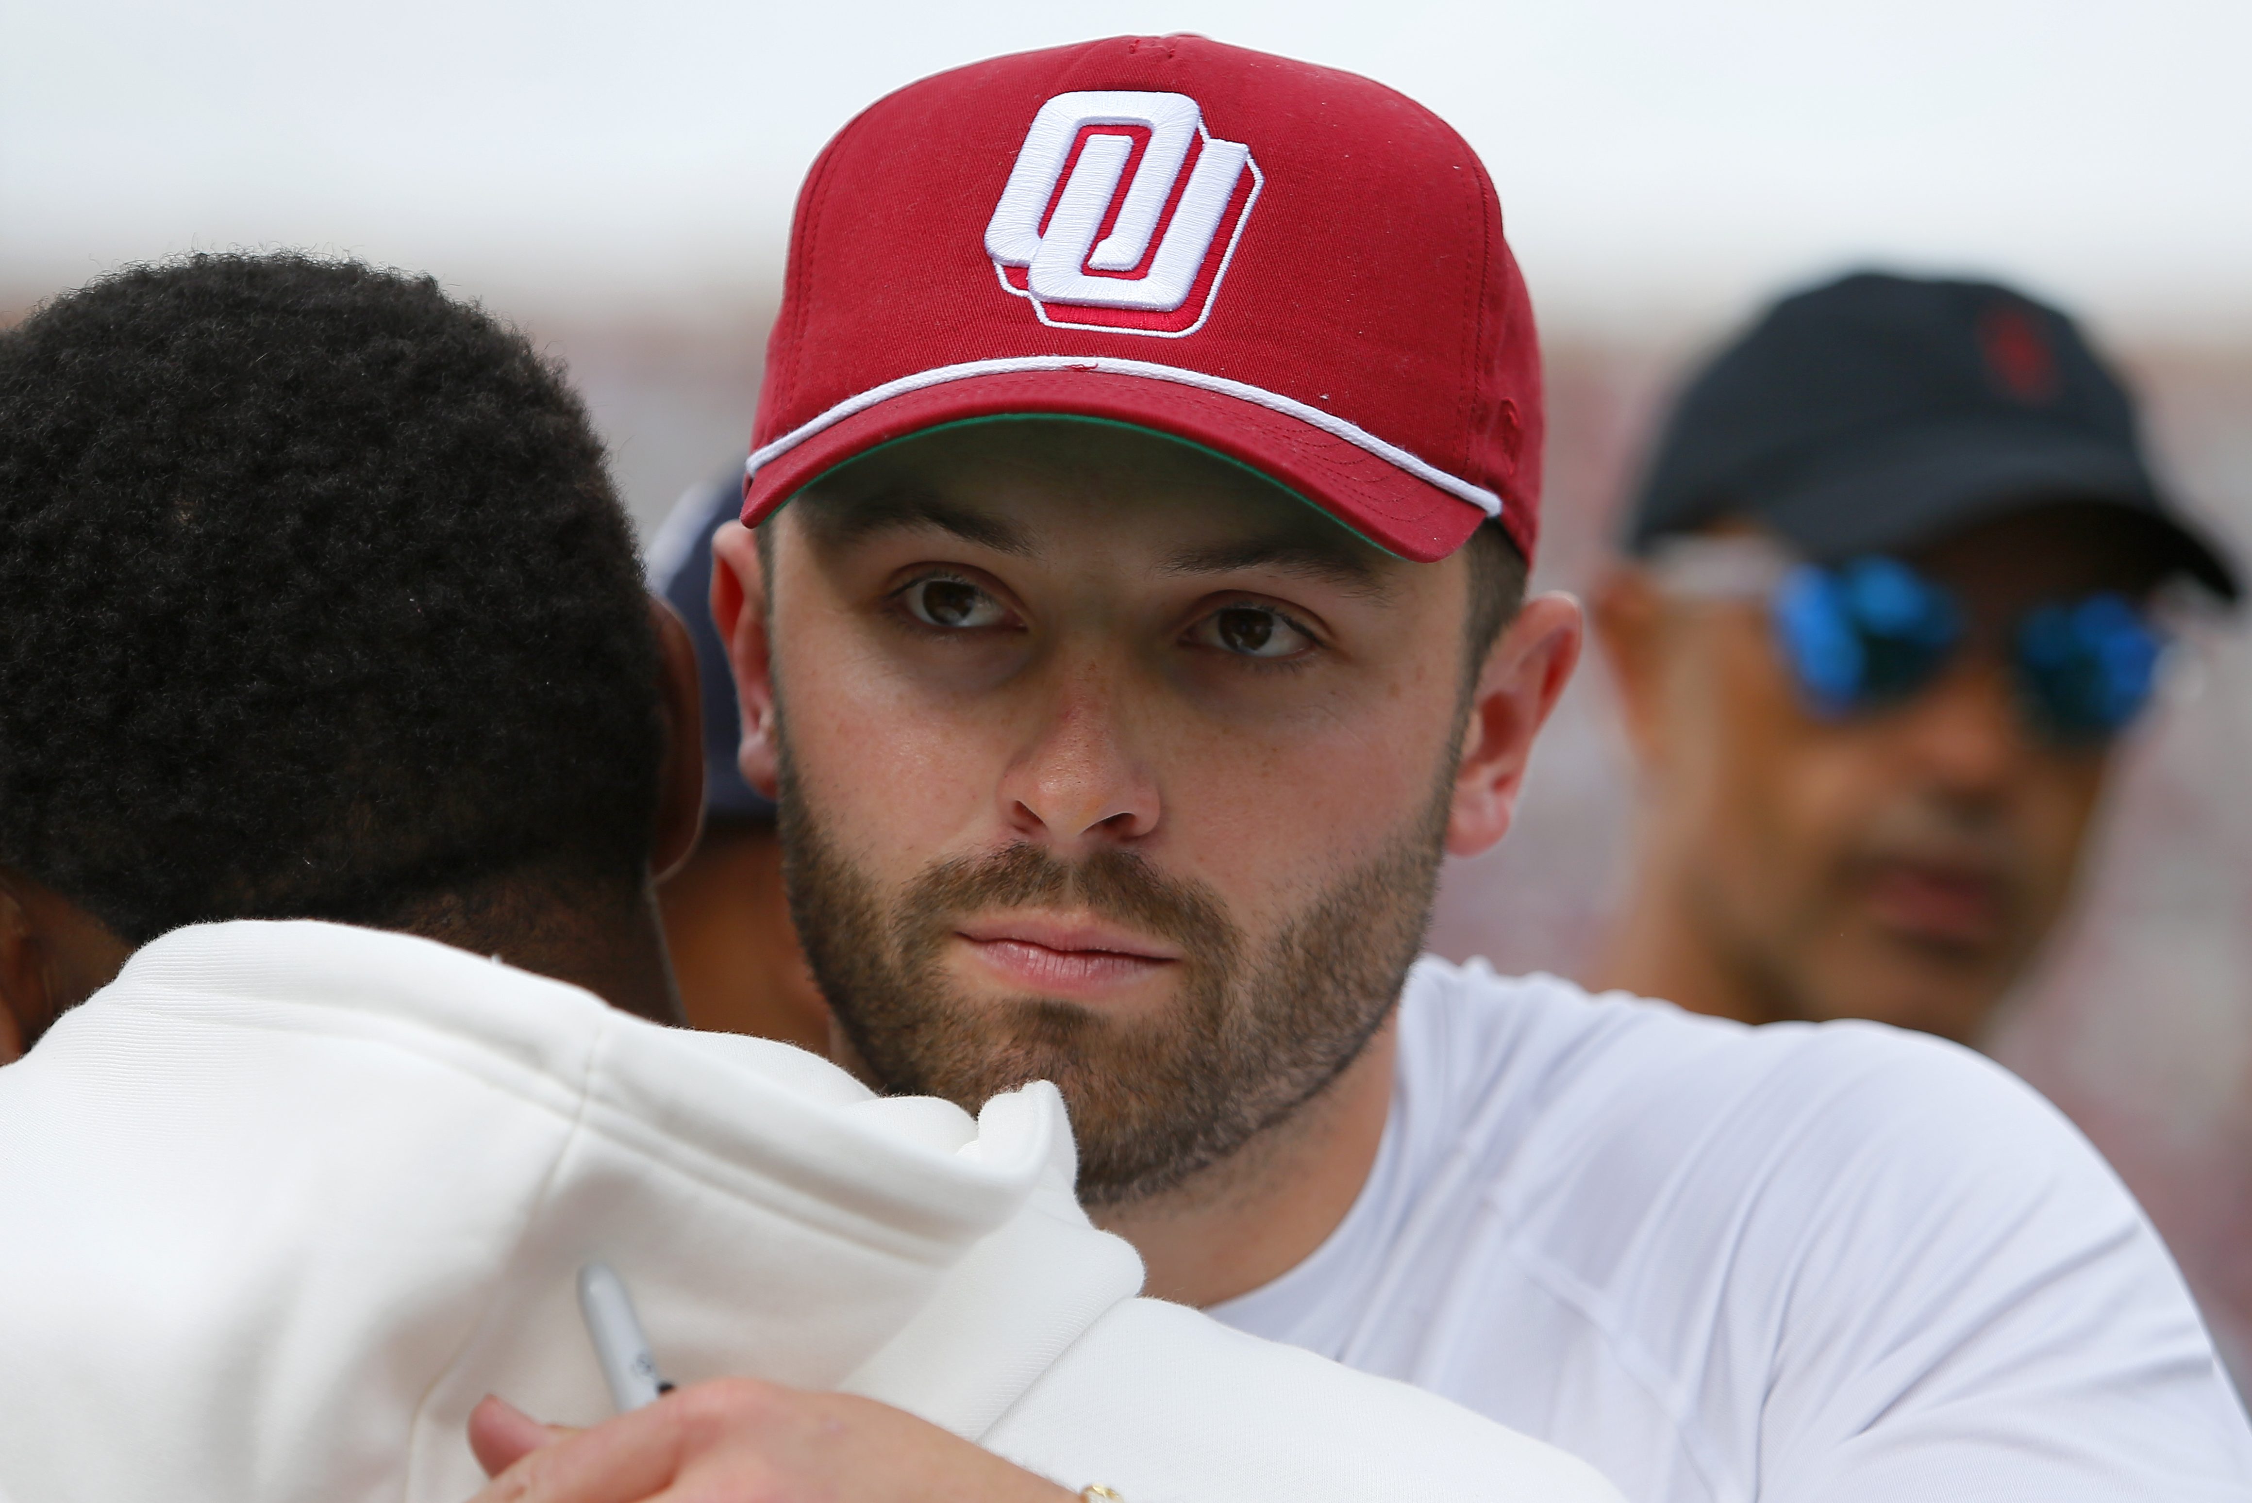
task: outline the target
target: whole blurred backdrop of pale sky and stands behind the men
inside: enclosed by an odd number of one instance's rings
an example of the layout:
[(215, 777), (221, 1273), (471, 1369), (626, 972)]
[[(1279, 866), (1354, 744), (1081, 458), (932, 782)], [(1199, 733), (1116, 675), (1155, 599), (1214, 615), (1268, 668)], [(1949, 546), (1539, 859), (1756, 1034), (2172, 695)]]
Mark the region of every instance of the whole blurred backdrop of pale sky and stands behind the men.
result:
[[(1194, 29), (1351, 68), (1453, 122), (1545, 326), (1540, 587), (1615, 556), (1684, 374), (1862, 266), (2072, 310), (2166, 488), (2252, 544), (2252, 9), (1151, 0), (0, 0), (0, 324), (124, 261), (333, 250), (435, 272), (568, 362), (655, 536), (741, 461), (790, 196), (914, 76)], [(2121, 749), (2088, 882), (1977, 1040), (2139, 1192), (2252, 1372), (2252, 637), (2189, 628)], [(1588, 976), (1626, 898), (1635, 767), (1590, 652), (1435, 947)]]

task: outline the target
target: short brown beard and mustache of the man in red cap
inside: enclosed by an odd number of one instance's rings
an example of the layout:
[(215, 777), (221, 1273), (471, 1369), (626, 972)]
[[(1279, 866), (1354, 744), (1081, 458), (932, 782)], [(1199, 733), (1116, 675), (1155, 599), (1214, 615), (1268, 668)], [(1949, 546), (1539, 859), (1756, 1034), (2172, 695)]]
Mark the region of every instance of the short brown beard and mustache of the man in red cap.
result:
[[(1398, 1001), (1430, 925), (1448, 785), (1374, 860), (1248, 945), (1203, 882), (1131, 850), (1065, 864), (1034, 844), (926, 868), (885, 902), (829, 839), (781, 752), (781, 850), (790, 916), (813, 979), (874, 1082), (968, 1112), (1029, 1080), (1072, 1109), (1079, 1195), (1117, 1206), (1162, 1195), (1241, 1150), (1335, 1080)], [(975, 1004), (944, 968), (975, 914), (1085, 909), (1182, 954), (1160, 1017), (1022, 994)]]

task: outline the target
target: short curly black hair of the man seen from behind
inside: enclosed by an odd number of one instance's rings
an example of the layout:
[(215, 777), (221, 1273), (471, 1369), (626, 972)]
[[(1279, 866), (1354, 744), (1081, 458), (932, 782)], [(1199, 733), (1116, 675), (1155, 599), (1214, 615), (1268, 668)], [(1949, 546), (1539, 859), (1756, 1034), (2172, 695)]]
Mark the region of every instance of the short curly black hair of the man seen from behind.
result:
[(430, 277), (200, 254), (0, 333), (0, 862), (128, 943), (640, 884), (660, 716), (586, 407)]

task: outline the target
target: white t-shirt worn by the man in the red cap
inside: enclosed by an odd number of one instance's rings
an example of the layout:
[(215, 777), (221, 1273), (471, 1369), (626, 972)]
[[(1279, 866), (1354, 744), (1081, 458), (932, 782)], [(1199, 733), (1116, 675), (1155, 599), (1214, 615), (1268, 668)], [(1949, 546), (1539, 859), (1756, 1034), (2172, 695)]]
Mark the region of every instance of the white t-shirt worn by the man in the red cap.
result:
[(2157, 1233), (2020, 1080), (1423, 961), (1360, 1199), (1212, 1310), (1642, 1503), (2252, 1498)]

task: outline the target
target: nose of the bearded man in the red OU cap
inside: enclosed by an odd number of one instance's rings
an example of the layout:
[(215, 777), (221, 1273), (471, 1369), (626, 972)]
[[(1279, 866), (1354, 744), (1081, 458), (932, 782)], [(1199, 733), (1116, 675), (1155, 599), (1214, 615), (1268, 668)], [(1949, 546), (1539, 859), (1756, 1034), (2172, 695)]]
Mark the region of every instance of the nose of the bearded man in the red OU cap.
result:
[(1065, 675), (1002, 774), (1011, 828), (1058, 855), (1088, 855), (1158, 828), (1158, 783), (1128, 745), (1119, 709), (1115, 675)]

